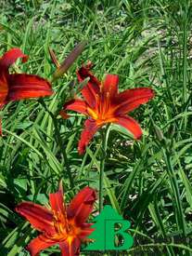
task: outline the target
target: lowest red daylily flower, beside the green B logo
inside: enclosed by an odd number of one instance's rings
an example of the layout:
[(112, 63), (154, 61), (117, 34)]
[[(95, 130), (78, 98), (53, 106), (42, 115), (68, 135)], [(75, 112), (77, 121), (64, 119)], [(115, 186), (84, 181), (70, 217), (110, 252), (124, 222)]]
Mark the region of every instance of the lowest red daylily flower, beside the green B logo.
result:
[(79, 255), (81, 243), (94, 231), (92, 223), (86, 223), (86, 220), (96, 201), (95, 190), (84, 187), (66, 207), (60, 183), (58, 192), (49, 195), (49, 201), (51, 209), (32, 202), (20, 203), (16, 208), (35, 229), (42, 232), (27, 249), (32, 256), (37, 256), (42, 249), (58, 244), (62, 256)]

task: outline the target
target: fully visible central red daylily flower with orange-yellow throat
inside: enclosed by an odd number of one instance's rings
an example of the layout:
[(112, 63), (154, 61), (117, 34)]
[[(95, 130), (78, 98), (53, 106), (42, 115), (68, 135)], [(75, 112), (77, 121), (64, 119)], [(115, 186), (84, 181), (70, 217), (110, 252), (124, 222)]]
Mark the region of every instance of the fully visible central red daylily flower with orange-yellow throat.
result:
[(90, 72), (90, 62), (77, 71), (79, 82), (89, 77), (87, 85), (82, 89), (82, 99), (74, 99), (63, 106), (60, 115), (67, 118), (65, 111), (73, 110), (89, 116), (84, 123), (84, 129), (79, 141), (78, 151), (83, 154), (86, 145), (91, 141), (96, 130), (108, 123), (115, 123), (127, 128), (134, 139), (139, 139), (142, 130), (138, 123), (127, 114), (146, 103), (154, 97), (151, 88), (132, 88), (118, 92), (119, 76), (107, 74), (101, 83), (94, 74)]

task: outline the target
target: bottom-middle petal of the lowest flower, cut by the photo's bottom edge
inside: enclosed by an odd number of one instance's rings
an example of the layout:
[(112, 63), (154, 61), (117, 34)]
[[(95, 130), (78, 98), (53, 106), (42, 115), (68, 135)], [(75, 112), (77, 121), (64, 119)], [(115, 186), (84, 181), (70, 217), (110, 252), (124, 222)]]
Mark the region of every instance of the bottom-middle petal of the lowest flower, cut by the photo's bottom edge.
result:
[(81, 241), (78, 238), (74, 238), (69, 241), (60, 242), (59, 247), (62, 256), (79, 256), (80, 255)]

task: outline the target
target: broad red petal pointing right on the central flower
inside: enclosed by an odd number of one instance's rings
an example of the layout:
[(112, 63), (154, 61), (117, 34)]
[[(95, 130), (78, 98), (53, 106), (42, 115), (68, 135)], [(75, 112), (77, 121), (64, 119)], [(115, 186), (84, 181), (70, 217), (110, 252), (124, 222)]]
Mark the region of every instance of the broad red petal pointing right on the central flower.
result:
[(131, 112), (153, 97), (154, 91), (151, 88), (127, 89), (117, 95), (117, 98), (114, 101), (114, 103), (118, 104), (115, 114), (123, 115)]

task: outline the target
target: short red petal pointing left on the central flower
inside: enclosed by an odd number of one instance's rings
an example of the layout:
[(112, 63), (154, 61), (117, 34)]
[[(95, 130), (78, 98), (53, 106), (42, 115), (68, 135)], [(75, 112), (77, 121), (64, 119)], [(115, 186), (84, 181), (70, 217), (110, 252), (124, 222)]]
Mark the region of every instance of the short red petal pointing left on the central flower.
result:
[(64, 104), (63, 110), (73, 110), (83, 115), (87, 115), (87, 104), (79, 99), (71, 100)]

